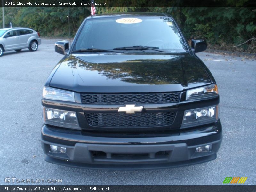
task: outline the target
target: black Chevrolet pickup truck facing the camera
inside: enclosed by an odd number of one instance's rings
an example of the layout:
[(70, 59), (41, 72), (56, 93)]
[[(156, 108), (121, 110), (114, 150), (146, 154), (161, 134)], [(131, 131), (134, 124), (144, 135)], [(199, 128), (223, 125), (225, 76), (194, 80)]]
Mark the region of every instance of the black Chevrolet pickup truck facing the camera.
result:
[(222, 128), (216, 82), (164, 13), (87, 17), (43, 90), (45, 160), (152, 169), (213, 160)]

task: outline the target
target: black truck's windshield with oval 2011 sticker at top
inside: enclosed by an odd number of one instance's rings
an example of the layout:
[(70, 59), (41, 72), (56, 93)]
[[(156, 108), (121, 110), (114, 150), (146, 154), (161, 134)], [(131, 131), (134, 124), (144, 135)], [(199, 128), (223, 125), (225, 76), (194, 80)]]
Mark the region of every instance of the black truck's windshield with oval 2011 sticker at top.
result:
[[(134, 46), (136, 49), (132, 48)], [(136, 16), (87, 20), (73, 51), (117, 48), (157, 52), (150, 47), (165, 52), (188, 52), (184, 38), (172, 18)]]

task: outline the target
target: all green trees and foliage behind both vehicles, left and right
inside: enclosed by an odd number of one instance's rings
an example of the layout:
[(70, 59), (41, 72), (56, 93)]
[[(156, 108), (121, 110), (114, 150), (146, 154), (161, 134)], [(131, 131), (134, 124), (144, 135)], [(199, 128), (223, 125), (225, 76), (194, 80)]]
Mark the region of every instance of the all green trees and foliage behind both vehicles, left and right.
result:
[[(110, 0), (106, 1), (113, 4)], [(145, 1), (131, 0), (131, 5), (145, 5)], [(173, 16), (188, 40), (204, 38), (210, 46), (218, 49), (255, 52), (256, 41), (253, 38), (256, 37), (256, 8), (240, 7), (247, 2), (227, 0), (226, 4), (230, 7), (117, 7), (113, 4), (112, 7), (96, 7), (96, 13), (164, 12)], [(9, 27), (12, 22), (13, 27), (30, 27), (42, 36), (68, 37), (69, 28), (71, 36), (74, 36), (84, 18), (89, 15), (90, 8), (87, 7), (5, 7), (5, 25)], [(239, 45), (248, 39), (252, 40)], [(239, 46), (233, 48), (236, 45)]]

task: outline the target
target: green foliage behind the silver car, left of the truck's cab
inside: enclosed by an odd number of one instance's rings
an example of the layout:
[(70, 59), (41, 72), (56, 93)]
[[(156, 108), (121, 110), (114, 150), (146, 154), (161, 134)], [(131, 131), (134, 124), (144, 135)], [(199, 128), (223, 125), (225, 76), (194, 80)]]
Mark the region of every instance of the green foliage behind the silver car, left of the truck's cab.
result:
[[(2, 10), (2, 9), (1, 9)], [(29, 27), (39, 31), (42, 36), (74, 36), (80, 24), (90, 15), (90, 9), (84, 7), (19, 7), (5, 8), (5, 26)], [(2, 15), (2, 12), (1, 12)], [(2, 18), (0, 19), (2, 25)]]

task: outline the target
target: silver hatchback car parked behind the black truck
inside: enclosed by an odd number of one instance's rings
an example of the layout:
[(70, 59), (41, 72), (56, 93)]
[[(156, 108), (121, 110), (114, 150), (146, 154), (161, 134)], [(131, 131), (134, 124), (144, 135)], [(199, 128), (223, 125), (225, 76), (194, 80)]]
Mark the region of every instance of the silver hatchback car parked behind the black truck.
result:
[(30, 28), (4, 28), (0, 29), (0, 57), (5, 51), (28, 48), (36, 51), (41, 44), (40, 34)]

